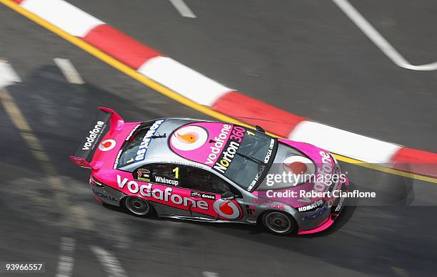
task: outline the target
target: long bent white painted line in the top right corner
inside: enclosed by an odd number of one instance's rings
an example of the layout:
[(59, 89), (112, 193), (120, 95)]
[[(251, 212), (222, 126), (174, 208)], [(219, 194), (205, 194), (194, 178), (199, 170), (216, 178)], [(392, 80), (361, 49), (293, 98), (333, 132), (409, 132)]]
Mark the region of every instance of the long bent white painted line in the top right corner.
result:
[(383, 51), (388, 58), (396, 63), (397, 66), (401, 68), (411, 69), (411, 70), (436, 70), (437, 62), (428, 63), (420, 66), (413, 66), (409, 63), (406, 58), (396, 51), (396, 49), (391, 46), (390, 43), (381, 36), (381, 33), (376, 31), (376, 28), (373, 28), (371, 23), (369, 23), (347, 0), (332, 0), (348, 17), (353, 21), (353, 23), (358, 26), (358, 28), (363, 31), (363, 33), (368, 36), (368, 38), (373, 41), (373, 43), (378, 46), (378, 48)]

